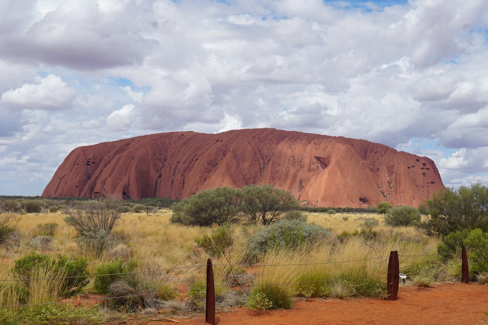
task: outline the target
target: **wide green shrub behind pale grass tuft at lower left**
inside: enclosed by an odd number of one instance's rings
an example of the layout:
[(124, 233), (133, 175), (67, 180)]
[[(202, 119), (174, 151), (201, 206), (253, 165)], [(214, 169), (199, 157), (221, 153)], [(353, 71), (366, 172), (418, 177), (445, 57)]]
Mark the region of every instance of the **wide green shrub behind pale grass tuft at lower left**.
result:
[(29, 288), (29, 279), (32, 278), (32, 274), (34, 274), (36, 269), (42, 267), (51, 268), (56, 272), (63, 271), (65, 279), (62, 281), (61, 296), (70, 297), (79, 293), (81, 289), (88, 284), (87, 266), (88, 261), (84, 257), (73, 260), (69, 259), (66, 255), (59, 254), (54, 258), (50, 255), (38, 254), (32, 251), (29, 255), (15, 261), (15, 265), (10, 272), (14, 274), (25, 287)]

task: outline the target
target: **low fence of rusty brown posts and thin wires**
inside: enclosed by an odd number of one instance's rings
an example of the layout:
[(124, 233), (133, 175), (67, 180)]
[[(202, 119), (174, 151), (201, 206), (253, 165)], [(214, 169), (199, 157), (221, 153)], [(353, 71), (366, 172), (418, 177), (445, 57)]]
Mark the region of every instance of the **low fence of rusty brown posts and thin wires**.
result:
[[(419, 255), (420, 256), (420, 255)], [(427, 256), (427, 255), (421, 255)], [(406, 256), (407, 257), (407, 256)], [(411, 257), (411, 256), (408, 256)], [(384, 257), (377, 257), (372, 259), (380, 259), (380, 258), (388, 258), (388, 268), (385, 273), (381, 274), (371, 274), (366, 276), (378, 276), (378, 275), (386, 275), (386, 284), (387, 284), (387, 300), (393, 301), (398, 299), (398, 287), (400, 282), (400, 269), (399, 269), (399, 256), (398, 251), (391, 251), (389, 256)], [(342, 262), (326, 262), (326, 263), (315, 263), (315, 264), (335, 264), (335, 263), (348, 263), (348, 262), (358, 262), (358, 261), (366, 261), (365, 260), (355, 260), (355, 261), (342, 261)], [(469, 283), (469, 268), (468, 268), (468, 255), (466, 252), (466, 248), (462, 246), (462, 260), (460, 262), (462, 264), (462, 276), (461, 282), (468, 284)], [(459, 263), (456, 263), (459, 264)], [(298, 265), (298, 264), (297, 264)], [(302, 265), (313, 265), (312, 264), (299, 264)], [(215, 281), (214, 281), (214, 266), (230, 266), (225, 264), (217, 264), (213, 265), (212, 260), (208, 259), (206, 263), (206, 284), (204, 287), (192, 287), (191, 289), (206, 289), (205, 295), (205, 322), (208, 324), (215, 325), (215, 310), (216, 310), (216, 296), (215, 296)], [(277, 267), (278, 265), (267, 265), (269, 267)], [(286, 266), (286, 265), (282, 265)], [(168, 268), (168, 269), (159, 269), (159, 270), (150, 270), (150, 271), (137, 271), (137, 272), (127, 272), (127, 273), (114, 273), (114, 274), (100, 274), (100, 275), (86, 275), (86, 276), (74, 276), (74, 277), (96, 277), (96, 276), (107, 276), (107, 275), (122, 275), (122, 274), (137, 274), (137, 273), (145, 273), (145, 272), (165, 272), (169, 270), (175, 269), (183, 269), (183, 268), (201, 268), (205, 267), (205, 265), (195, 265), (195, 266), (187, 266), (181, 268)], [(260, 267), (266, 267), (266, 265), (260, 265)], [(74, 277), (63, 277), (63, 279), (67, 278), (74, 278)], [(365, 277), (365, 276), (362, 276)], [(38, 279), (25, 279), (25, 280), (51, 280), (51, 279), (61, 279), (61, 278), (38, 278)], [(347, 278), (345, 278), (347, 279)], [(337, 281), (337, 280), (345, 280), (345, 279), (333, 279), (333, 280), (321, 280), (318, 282), (326, 282), (326, 281)], [(18, 281), (14, 279), (2, 280), (1, 282), (7, 281)], [(312, 281), (313, 282), (313, 281)], [(298, 282), (298, 283), (306, 283), (306, 282)], [(267, 285), (292, 285), (298, 283), (274, 283), (274, 284), (267, 284)], [(25, 304), (25, 305), (10, 305), (10, 306), (0, 306), (2, 307), (24, 307), (24, 306), (39, 306), (39, 305), (53, 305), (53, 304), (67, 304), (67, 303), (80, 303), (80, 302), (90, 302), (90, 301), (102, 301), (102, 300), (110, 300), (110, 299), (120, 299), (120, 298), (130, 298), (130, 297), (141, 297), (144, 295), (155, 295), (155, 294), (163, 294), (163, 293), (170, 293), (170, 292), (181, 292), (183, 289), (174, 289), (174, 290), (167, 290), (167, 291), (160, 291), (160, 292), (150, 292), (150, 293), (139, 293), (133, 295), (124, 295), (124, 296), (117, 296), (117, 297), (98, 297), (93, 299), (80, 299), (76, 301), (62, 301), (62, 302), (50, 302), (50, 303), (41, 303), (41, 304)]]

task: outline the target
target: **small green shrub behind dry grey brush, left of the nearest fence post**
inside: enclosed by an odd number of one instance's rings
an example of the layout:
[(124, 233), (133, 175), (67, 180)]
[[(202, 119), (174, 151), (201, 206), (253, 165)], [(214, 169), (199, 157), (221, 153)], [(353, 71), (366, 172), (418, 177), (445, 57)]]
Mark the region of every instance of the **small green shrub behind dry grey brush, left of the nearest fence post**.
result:
[(116, 281), (126, 281), (129, 286), (135, 286), (134, 274), (131, 274), (135, 267), (135, 261), (124, 262), (120, 258), (113, 262), (99, 264), (93, 280), (95, 292), (98, 294), (109, 293), (110, 285)]

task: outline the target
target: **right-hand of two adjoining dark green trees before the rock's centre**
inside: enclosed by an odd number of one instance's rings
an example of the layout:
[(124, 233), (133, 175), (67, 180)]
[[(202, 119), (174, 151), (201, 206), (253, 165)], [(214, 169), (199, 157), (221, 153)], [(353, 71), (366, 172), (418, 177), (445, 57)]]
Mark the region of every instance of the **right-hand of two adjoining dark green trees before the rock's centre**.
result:
[(242, 189), (242, 212), (247, 222), (269, 225), (291, 210), (300, 210), (300, 203), (289, 191), (271, 185), (248, 185)]

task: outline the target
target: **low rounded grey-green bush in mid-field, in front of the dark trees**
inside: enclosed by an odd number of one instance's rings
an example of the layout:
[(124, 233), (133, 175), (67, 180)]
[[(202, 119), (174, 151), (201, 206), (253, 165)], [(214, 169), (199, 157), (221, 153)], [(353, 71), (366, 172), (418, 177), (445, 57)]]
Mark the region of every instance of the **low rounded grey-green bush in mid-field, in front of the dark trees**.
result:
[(324, 227), (296, 219), (280, 220), (252, 236), (251, 257), (256, 258), (268, 249), (297, 249), (303, 245), (312, 246), (332, 238), (331, 233)]

